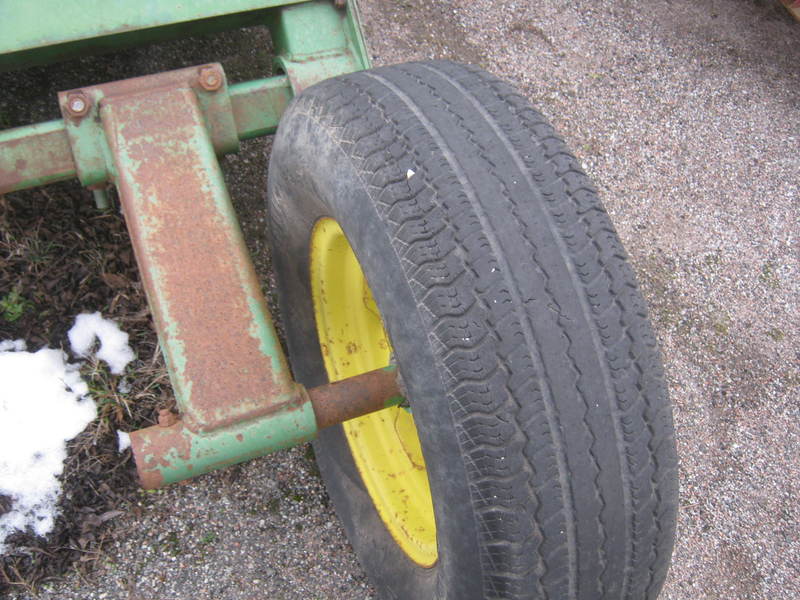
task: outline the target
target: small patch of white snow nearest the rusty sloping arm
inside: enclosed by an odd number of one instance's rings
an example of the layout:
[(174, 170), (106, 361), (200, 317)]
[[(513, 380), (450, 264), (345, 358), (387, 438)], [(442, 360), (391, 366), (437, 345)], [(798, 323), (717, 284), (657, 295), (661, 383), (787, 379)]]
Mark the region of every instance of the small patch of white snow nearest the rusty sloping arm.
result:
[(122, 374), (134, 359), (133, 350), (128, 345), (128, 334), (114, 321), (104, 319), (99, 312), (78, 315), (67, 336), (72, 351), (81, 357), (89, 355), (95, 338), (100, 340), (97, 358), (108, 363), (115, 375)]

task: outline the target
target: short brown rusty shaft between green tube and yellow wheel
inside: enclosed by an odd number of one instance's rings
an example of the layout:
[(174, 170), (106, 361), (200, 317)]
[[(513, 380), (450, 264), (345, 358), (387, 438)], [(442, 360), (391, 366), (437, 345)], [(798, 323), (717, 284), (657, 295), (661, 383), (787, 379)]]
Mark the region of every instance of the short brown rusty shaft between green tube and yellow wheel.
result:
[(384, 369), (308, 390), (318, 429), (385, 408), (399, 395), (396, 372)]

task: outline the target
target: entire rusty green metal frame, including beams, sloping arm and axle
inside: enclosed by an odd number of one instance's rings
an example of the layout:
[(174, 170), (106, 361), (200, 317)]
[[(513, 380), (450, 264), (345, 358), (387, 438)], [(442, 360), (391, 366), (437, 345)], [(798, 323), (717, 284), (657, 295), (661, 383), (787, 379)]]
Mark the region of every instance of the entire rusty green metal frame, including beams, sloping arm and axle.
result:
[(11, 0), (3, 11), (0, 69), (242, 25), (272, 36), (279, 75), (229, 85), (207, 63), (66, 90), (63, 119), (0, 132), (0, 194), (75, 177), (119, 190), (181, 412), (132, 432), (144, 485), (307, 441), (398, 401), (393, 370), (313, 390), (293, 381), (217, 160), (273, 133), (304, 88), (370, 66), (354, 3)]

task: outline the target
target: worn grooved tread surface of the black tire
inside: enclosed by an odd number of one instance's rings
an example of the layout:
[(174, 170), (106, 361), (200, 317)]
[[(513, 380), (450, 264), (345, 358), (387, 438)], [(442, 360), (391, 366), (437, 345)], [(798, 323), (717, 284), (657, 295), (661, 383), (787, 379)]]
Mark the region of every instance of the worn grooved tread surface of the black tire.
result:
[(429, 326), (483, 596), (655, 598), (677, 504), (663, 368), (564, 141), (510, 86), (448, 62), (330, 80), (293, 110), (348, 149)]

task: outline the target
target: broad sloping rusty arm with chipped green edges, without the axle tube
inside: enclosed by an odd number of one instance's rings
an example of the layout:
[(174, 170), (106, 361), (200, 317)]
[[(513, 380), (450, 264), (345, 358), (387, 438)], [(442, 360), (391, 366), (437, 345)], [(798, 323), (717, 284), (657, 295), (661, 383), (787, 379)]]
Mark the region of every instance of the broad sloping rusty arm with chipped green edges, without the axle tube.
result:
[[(216, 90), (197, 89), (204, 73)], [(223, 82), (214, 65), (84, 92), (102, 95), (92, 126), (104, 133), (176, 399), (195, 431), (303, 400), (217, 162), (238, 143), (229, 102), (219, 108), (207, 98), (223, 92)]]

